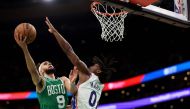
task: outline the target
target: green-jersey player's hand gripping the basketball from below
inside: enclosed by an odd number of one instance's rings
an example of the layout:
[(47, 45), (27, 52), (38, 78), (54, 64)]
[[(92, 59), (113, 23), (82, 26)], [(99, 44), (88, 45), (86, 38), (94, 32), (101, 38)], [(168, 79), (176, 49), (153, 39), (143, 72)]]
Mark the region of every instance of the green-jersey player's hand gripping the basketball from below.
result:
[(16, 40), (16, 43), (22, 48), (26, 48), (27, 47), (27, 44), (26, 44), (26, 36), (23, 37), (22, 34), (19, 34), (19, 33), (15, 33), (14, 34), (15, 36), (15, 40)]

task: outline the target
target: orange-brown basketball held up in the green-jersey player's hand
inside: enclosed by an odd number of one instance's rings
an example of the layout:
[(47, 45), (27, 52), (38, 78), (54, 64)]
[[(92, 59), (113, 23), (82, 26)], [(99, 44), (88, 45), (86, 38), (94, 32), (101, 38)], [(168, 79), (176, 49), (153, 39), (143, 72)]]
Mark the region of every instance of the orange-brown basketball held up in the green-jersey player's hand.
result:
[(36, 39), (36, 29), (35, 27), (30, 24), (30, 23), (21, 23), (17, 25), (14, 31), (14, 38), (16, 38), (15, 34), (21, 34), (22, 36), (20, 37), (27, 37), (26, 38), (26, 43), (30, 44)]

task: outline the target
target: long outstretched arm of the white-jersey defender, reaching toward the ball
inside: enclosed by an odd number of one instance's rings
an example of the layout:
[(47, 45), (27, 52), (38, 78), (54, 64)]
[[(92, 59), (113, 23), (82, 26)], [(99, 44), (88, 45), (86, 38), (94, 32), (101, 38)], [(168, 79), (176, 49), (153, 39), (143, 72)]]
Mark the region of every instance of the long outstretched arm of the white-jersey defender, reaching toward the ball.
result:
[(79, 57), (75, 54), (72, 46), (68, 43), (68, 41), (54, 28), (49, 19), (46, 17), (46, 24), (49, 27), (49, 32), (52, 33), (62, 50), (65, 52), (69, 60), (72, 62), (74, 66), (77, 66), (78, 70), (81, 73), (86, 75), (90, 75), (90, 72), (86, 66), (86, 64), (79, 59)]

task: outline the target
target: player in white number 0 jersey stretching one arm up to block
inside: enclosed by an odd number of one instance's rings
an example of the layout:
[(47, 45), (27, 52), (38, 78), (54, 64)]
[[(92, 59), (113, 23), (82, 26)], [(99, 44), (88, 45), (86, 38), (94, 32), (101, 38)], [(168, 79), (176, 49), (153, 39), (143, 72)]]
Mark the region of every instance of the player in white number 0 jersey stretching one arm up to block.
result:
[(72, 109), (96, 109), (104, 87), (98, 77), (104, 69), (104, 64), (101, 60), (95, 57), (94, 65), (88, 68), (87, 65), (75, 54), (71, 45), (54, 28), (47, 17), (45, 22), (49, 27), (49, 32), (55, 36), (58, 44), (71, 63), (79, 70), (79, 81), (77, 83), (78, 92), (75, 95), (75, 103), (71, 104)]

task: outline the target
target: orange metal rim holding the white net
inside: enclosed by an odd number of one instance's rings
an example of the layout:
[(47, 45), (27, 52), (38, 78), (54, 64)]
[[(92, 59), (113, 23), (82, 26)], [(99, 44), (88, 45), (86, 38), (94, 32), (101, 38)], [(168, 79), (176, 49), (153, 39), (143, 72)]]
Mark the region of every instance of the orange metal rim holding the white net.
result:
[(92, 2), (91, 4), (91, 10), (99, 15), (104, 15), (104, 16), (120, 16), (120, 15), (123, 15), (123, 14), (126, 14), (128, 13), (127, 11), (123, 11), (121, 10), (121, 12), (117, 12), (117, 13), (104, 13), (104, 12), (99, 12), (96, 10), (96, 7), (97, 5), (100, 5), (101, 3), (100, 2)]

